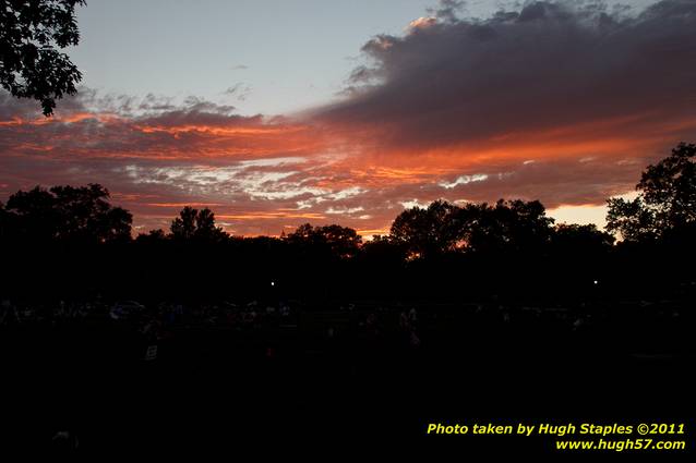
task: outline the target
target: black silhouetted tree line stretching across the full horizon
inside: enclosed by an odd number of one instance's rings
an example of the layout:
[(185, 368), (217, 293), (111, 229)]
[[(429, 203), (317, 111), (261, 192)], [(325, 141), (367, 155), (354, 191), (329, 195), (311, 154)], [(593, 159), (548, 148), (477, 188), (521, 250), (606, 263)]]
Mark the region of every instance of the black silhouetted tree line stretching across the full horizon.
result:
[[(695, 156), (696, 145), (682, 143), (648, 166), (634, 199), (609, 199), (607, 231), (554, 224), (538, 200), (501, 199), (406, 209), (388, 234), (370, 241), (347, 227), (310, 223), (277, 237), (233, 236), (211, 209), (193, 207), (168, 231), (133, 239), (132, 215), (111, 205), (104, 186), (37, 186), (0, 203), (3, 281), (12, 282), (5, 291), (37, 283), (59, 291), (196, 288), (211, 294), (265, 293), (273, 281), (276, 292), (329, 296), (370, 288), (377, 295), (418, 288), (429, 294), (433, 285), (451, 294), (461, 281), (476, 291), (536, 288), (539, 294), (599, 281), (615, 288), (685, 283), (691, 271), (675, 277), (674, 263), (694, 255)], [(64, 271), (50, 270), (59, 268)]]

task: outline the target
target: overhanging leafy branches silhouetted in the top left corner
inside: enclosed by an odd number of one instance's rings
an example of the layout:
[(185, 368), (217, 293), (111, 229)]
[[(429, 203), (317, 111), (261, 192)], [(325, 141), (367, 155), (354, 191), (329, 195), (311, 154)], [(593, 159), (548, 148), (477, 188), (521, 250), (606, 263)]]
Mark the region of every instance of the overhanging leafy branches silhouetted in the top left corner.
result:
[(58, 51), (77, 45), (75, 7), (84, 0), (0, 1), (0, 84), (13, 96), (34, 98), (45, 115), (56, 99), (73, 95), (82, 73), (68, 54)]

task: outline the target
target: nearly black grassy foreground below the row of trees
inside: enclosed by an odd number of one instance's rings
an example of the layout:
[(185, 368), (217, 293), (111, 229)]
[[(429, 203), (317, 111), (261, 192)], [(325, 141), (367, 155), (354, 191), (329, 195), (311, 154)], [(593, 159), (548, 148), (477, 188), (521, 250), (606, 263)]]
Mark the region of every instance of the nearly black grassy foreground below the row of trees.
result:
[[(142, 316), (115, 320), (104, 310), (5, 324), (3, 446), (75, 451), (76, 436), (76, 451), (86, 454), (189, 449), (333, 459), (374, 444), (554, 453), (547, 438), (428, 436), (425, 428), (693, 424), (687, 308), (363, 303), (295, 305), (280, 315), (235, 306), (216, 310), (238, 316), (172, 318), (156, 336), (143, 333)], [(257, 316), (245, 318), (250, 312)], [(157, 356), (146, 361), (153, 344)], [(56, 437), (64, 431), (69, 439)]]

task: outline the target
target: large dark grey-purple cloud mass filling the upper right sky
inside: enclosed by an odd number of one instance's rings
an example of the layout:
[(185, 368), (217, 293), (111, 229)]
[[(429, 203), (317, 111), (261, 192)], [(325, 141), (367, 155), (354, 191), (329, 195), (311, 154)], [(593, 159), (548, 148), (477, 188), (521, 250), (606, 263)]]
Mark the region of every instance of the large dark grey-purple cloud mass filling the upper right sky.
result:
[(626, 115), (650, 124), (696, 114), (693, 0), (639, 13), (538, 1), (484, 20), (451, 15), (457, 3), (443, 3), (446, 21), (368, 41), (371, 64), (317, 118), (419, 150)]

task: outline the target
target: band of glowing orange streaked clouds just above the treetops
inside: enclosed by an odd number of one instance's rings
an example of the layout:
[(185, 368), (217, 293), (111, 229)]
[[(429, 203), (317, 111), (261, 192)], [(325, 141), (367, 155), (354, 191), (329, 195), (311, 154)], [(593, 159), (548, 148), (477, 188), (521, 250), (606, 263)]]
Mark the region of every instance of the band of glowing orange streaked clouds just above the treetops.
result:
[[(644, 113), (407, 149), (376, 136), (379, 126), (353, 133), (350, 124), (327, 129), (322, 120), (227, 123), (169, 126), (92, 112), (11, 119), (0, 123), (9, 167), (0, 180), (7, 192), (104, 183), (134, 212), (139, 230), (167, 228), (188, 205), (212, 208), (235, 233), (311, 221), (371, 236), (388, 232), (405, 205), (441, 197), (601, 204), (628, 191), (653, 154), (696, 127), (694, 118), (659, 122)], [(156, 212), (163, 209), (170, 211)]]

